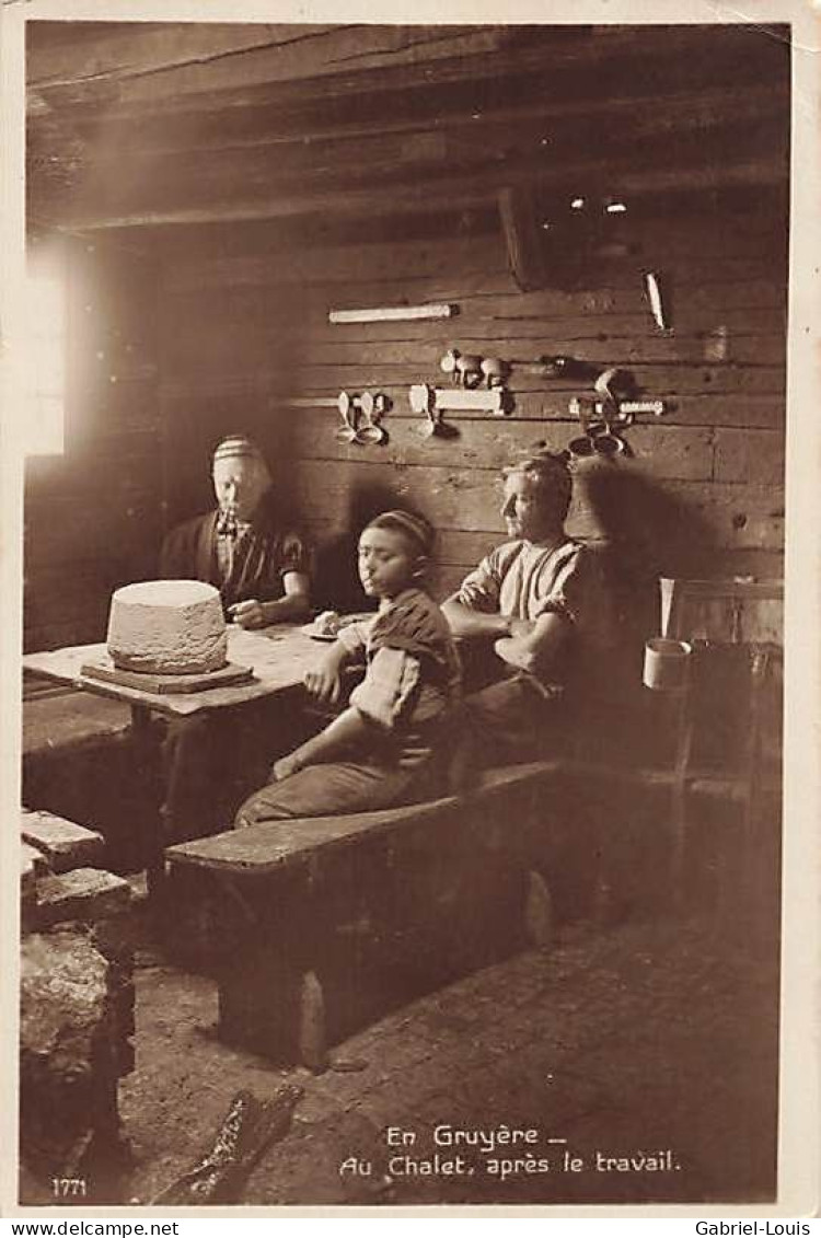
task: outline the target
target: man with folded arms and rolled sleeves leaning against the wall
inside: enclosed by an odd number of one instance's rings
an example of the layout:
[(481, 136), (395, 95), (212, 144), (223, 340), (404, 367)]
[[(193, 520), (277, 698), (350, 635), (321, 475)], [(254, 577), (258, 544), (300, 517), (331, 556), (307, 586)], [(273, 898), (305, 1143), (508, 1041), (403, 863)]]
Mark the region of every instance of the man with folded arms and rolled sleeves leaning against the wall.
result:
[(457, 780), (488, 761), (554, 754), (571, 722), (594, 719), (619, 678), (602, 558), (565, 532), (571, 498), (561, 454), (539, 451), (505, 469), (502, 515), (510, 541), (442, 604), (466, 669), (476, 675), (476, 646), (489, 654), (484, 686), (463, 703)]

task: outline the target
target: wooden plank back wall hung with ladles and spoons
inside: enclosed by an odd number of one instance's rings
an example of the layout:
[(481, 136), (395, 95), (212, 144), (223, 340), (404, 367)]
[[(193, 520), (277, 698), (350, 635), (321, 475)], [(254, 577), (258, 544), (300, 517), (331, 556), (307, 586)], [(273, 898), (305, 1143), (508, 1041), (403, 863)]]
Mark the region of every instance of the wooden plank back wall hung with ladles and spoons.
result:
[[(208, 449), (248, 427), (279, 461), (279, 485), (318, 540), (374, 506), (409, 504), (440, 532), (443, 595), (497, 542), (498, 468), (536, 439), (578, 433), (568, 401), (583, 385), (528, 368), (568, 354), (629, 368), (667, 413), (628, 431), (633, 459), (582, 463), (573, 534), (627, 547), (650, 573), (780, 576), (785, 421), (786, 225), (778, 209), (705, 208), (614, 217), (608, 245), (565, 286), (521, 292), (500, 230), (430, 241), (277, 249), (238, 229), (222, 249), (177, 245), (163, 260), (160, 399), (180, 519), (209, 503)], [(572, 244), (572, 240), (568, 241)], [(655, 326), (641, 269), (662, 270), (675, 331)], [(557, 284), (561, 276), (557, 272)], [(431, 323), (331, 326), (329, 307), (448, 301)], [(448, 381), (451, 345), (514, 361), (511, 416), (448, 415), (453, 438), (426, 438), (412, 383)], [(385, 446), (345, 446), (329, 409), (286, 396), (388, 394)]]

